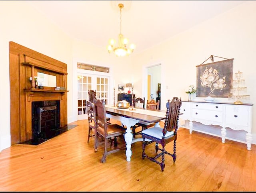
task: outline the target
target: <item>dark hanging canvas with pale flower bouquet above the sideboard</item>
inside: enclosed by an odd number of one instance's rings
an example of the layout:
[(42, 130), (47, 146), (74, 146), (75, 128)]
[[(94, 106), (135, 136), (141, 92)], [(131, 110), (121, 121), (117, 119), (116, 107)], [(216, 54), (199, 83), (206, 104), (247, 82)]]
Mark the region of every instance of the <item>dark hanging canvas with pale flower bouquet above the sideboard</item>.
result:
[(233, 81), (233, 60), (196, 66), (196, 97), (227, 98)]

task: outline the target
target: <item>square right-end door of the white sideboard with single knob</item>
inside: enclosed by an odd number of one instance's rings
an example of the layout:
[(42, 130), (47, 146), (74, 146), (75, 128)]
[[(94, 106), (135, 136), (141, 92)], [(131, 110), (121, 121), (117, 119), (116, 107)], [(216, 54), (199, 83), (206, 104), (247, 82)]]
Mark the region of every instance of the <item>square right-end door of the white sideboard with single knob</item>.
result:
[(226, 106), (226, 124), (248, 126), (249, 110), (246, 106), (232, 105)]

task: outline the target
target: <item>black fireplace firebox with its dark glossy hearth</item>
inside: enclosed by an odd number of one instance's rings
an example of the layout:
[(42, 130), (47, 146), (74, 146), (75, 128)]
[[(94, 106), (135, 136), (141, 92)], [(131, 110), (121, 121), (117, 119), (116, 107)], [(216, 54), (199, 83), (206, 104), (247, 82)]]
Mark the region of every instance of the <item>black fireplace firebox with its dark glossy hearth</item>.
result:
[(60, 127), (60, 101), (32, 102), (32, 139), (21, 144), (41, 144), (63, 132), (67, 127)]

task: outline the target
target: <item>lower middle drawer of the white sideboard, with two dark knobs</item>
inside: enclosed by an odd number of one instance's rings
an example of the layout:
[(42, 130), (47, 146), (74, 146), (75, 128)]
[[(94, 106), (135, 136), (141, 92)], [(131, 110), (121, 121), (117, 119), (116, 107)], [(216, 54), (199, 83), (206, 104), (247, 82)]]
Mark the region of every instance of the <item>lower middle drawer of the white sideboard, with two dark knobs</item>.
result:
[(223, 122), (223, 113), (212, 110), (192, 109), (192, 118), (214, 122)]

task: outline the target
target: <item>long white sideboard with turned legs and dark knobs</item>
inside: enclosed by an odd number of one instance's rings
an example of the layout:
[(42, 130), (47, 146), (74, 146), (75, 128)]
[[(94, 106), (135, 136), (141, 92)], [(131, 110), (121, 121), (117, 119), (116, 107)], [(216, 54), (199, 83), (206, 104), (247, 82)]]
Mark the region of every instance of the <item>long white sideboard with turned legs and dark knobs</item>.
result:
[[(182, 101), (182, 106), (180, 107), (180, 118), (183, 120), (189, 120), (189, 131), (203, 132), (207, 134), (216, 134), (210, 132), (204, 132), (200, 128), (193, 126), (192, 121), (199, 122), (204, 125), (218, 125), (221, 126), (222, 143), (225, 143), (225, 138), (227, 135), (227, 129), (232, 130), (244, 130), (246, 131), (246, 143), (247, 150), (251, 150), (252, 144), (252, 105), (253, 104), (233, 104), (227, 102), (187, 102)], [(232, 138), (228, 138), (234, 140)]]

